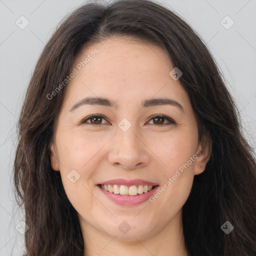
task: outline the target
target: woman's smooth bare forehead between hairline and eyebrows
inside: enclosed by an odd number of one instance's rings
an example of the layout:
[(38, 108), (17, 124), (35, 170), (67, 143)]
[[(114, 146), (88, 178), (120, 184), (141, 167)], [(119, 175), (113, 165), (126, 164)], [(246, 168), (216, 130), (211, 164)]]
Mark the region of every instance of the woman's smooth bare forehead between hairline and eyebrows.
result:
[(169, 75), (173, 66), (167, 53), (160, 46), (132, 37), (87, 43), (74, 59), (71, 71), (73, 68), (77, 73), (66, 88), (69, 97), (96, 95), (134, 101), (134, 97), (155, 95), (188, 99), (179, 81)]

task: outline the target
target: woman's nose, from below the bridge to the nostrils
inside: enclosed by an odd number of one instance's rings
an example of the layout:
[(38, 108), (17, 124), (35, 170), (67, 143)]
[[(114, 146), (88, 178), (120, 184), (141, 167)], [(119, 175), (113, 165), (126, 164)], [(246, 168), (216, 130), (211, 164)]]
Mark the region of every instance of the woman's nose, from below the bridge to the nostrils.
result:
[(133, 125), (127, 131), (117, 127), (117, 133), (112, 138), (110, 146), (108, 161), (114, 166), (135, 169), (146, 166), (150, 160), (150, 150)]

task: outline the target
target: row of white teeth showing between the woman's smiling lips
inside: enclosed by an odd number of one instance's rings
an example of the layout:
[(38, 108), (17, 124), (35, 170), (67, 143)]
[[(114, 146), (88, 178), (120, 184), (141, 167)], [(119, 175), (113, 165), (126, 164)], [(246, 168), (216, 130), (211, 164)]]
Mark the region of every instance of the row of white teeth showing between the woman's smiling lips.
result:
[(98, 187), (101, 189), (104, 189), (105, 191), (109, 193), (114, 194), (120, 194), (120, 195), (130, 195), (135, 196), (142, 193), (147, 193), (151, 191), (154, 187), (158, 185), (132, 185), (132, 186), (126, 186), (126, 185), (110, 185), (110, 184), (97, 184)]

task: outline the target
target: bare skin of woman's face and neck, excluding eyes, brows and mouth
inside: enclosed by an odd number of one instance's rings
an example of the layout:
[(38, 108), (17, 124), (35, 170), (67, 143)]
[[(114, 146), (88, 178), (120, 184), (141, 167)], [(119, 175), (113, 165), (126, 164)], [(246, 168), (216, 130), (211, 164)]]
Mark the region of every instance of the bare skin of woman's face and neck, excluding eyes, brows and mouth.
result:
[[(74, 60), (98, 53), (70, 80), (50, 145), (51, 165), (61, 180), (78, 218), (84, 238), (84, 255), (189, 255), (182, 231), (182, 206), (210, 156), (210, 141), (198, 141), (197, 122), (186, 91), (170, 77), (173, 66), (159, 46), (132, 37), (111, 37), (88, 44)], [(72, 67), (72, 68), (73, 68)], [(118, 108), (81, 105), (86, 96), (116, 101)], [(141, 108), (141, 101), (168, 97), (180, 103)], [(91, 114), (105, 116), (97, 123)], [(150, 117), (163, 114), (164, 124)], [(126, 118), (127, 131), (118, 127)], [(201, 154), (154, 202), (121, 206), (109, 200), (96, 184), (113, 178), (145, 179), (161, 187), (196, 151)], [(203, 166), (201, 169), (200, 167)], [(72, 183), (66, 175), (75, 169), (80, 178)], [(126, 221), (130, 230), (118, 226)]]

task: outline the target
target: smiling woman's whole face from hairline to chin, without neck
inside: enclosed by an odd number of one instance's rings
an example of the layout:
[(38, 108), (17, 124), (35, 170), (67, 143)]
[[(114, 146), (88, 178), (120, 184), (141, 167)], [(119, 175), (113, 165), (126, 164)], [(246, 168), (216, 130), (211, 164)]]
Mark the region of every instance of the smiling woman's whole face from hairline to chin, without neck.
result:
[(172, 69), (162, 48), (131, 37), (86, 45), (74, 60), (51, 165), (82, 228), (132, 240), (180, 223), (209, 151)]

